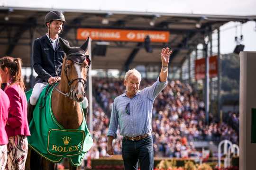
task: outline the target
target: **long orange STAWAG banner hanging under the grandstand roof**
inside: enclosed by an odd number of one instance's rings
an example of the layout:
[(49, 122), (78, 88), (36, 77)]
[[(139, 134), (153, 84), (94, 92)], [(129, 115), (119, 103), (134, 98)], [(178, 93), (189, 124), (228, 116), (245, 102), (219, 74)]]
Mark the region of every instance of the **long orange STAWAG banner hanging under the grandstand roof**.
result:
[(149, 35), (151, 42), (169, 42), (170, 33), (168, 31), (78, 28), (76, 39), (85, 40), (90, 36), (92, 40), (144, 42), (146, 35)]

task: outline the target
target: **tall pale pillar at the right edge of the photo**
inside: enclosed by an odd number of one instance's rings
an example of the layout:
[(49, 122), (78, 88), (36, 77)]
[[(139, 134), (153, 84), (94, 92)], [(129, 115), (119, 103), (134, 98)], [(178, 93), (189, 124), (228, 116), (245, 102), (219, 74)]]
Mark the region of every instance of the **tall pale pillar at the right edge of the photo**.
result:
[[(252, 120), (256, 108), (256, 52), (240, 52), (240, 129), (239, 170), (255, 170), (256, 141), (253, 137), (256, 121)], [(256, 112), (254, 113), (254, 116)]]

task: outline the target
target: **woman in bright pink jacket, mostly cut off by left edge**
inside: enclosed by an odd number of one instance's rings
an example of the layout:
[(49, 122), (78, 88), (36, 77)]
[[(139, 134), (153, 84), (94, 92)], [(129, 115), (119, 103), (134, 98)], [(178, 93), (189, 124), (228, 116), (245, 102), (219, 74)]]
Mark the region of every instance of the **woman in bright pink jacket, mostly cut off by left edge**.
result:
[[(0, 76), (0, 85), (1, 85)], [(8, 118), (8, 111), (10, 107), (10, 101), (6, 93), (0, 89), (0, 170), (4, 170), (7, 162), (7, 144), (8, 136), (5, 131), (5, 126)]]

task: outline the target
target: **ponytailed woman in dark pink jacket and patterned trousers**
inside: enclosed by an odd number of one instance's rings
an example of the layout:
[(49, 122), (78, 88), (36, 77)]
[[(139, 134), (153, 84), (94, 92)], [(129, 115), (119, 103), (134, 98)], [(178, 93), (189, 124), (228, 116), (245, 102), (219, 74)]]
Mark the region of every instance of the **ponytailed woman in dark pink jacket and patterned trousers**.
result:
[(5, 93), (9, 97), (10, 110), (5, 130), (9, 142), (6, 170), (24, 170), (27, 158), (27, 136), (30, 135), (27, 123), (27, 99), (21, 77), (21, 59), (3, 57), (0, 59), (2, 83), (7, 83)]

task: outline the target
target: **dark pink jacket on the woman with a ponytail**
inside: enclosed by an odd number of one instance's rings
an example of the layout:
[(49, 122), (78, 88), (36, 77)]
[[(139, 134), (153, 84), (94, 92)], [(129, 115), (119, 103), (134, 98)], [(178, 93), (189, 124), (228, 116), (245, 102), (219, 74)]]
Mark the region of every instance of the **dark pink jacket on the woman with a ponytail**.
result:
[(13, 84), (6, 87), (5, 93), (10, 100), (8, 125), (5, 127), (8, 137), (17, 135), (30, 136), (27, 123), (27, 98), (24, 91), (18, 84)]

